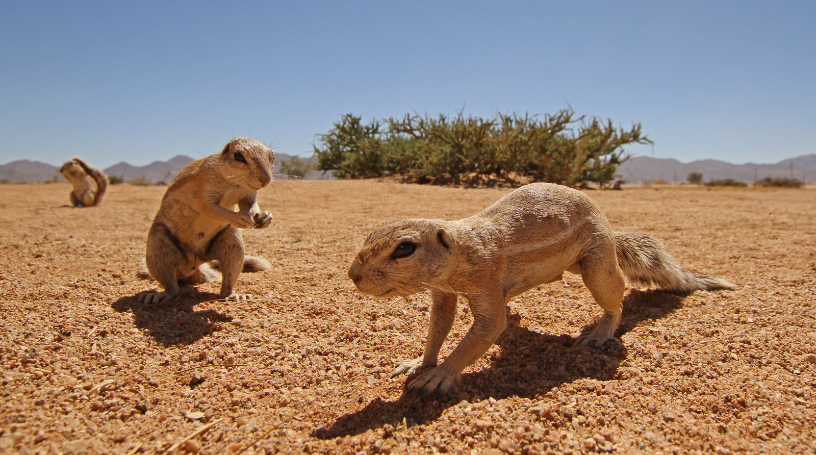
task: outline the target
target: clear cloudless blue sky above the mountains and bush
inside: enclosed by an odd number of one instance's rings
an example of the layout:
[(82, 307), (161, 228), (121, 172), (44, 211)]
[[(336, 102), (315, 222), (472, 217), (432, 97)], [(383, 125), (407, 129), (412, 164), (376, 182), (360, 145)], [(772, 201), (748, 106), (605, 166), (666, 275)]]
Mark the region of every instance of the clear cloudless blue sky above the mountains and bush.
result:
[(681, 161), (816, 152), (816, 2), (0, 2), (0, 164), (144, 165), (344, 113), (641, 122)]

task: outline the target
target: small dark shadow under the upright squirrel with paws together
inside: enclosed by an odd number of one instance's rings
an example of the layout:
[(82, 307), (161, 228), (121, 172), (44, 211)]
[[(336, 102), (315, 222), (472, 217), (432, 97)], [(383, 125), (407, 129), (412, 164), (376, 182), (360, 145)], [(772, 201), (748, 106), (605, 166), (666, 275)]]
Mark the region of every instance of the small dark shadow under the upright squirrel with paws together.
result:
[(138, 303), (139, 294), (119, 298), (111, 307), (118, 312), (131, 311), (136, 328), (144, 330), (162, 346), (188, 345), (218, 329), (219, 323), (232, 320), (215, 310), (195, 311), (199, 303), (219, 300), (218, 294), (202, 293), (184, 286), (170, 303)]

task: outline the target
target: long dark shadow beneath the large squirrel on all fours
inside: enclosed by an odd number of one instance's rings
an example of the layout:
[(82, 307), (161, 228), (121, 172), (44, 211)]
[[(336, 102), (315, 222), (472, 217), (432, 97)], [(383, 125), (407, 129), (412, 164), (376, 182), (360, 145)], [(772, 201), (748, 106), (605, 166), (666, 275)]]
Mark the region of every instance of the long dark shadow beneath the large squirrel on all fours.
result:
[[(671, 314), (681, 307), (682, 297), (681, 294), (658, 290), (632, 289), (623, 298), (623, 318), (615, 337), (628, 333), (643, 320)], [(541, 334), (520, 327), (520, 320), (521, 316), (517, 314), (508, 317), (508, 328), (496, 342), (501, 347), (499, 355), (490, 360), (487, 368), (464, 373), (458, 396), (434, 400), (403, 394), (395, 401), (377, 397), (365, 408), (345, 414), (330, 426), (313, 431), (313, 437), (333, 439), (359, 435), (386, 425), (401, 426), (404, 422), (408, 426), (427, 424), (460, 400), (477, 401), (491, 396), (496, 400), (511, 396), (534, 398), (581, 378), (609, 381), (614, 378), (620, 362), (627, 357), (627, 349), (620, 342), (607, 342), (601, 349), (572, 347), (577, 338), (566, 334)], [(593, 325), (588, 325), (584, 331), (592, 328)], [(424, 371), (411, 375), (406, 383), (419, 373)]]

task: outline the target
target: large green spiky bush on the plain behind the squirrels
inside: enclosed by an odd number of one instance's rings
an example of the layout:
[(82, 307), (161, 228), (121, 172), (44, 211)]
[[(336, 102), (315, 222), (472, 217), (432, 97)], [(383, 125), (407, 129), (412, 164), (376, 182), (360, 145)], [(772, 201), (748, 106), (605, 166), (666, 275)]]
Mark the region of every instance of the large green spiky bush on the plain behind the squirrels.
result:
[(315, 145), (318, 169), (338, 178), (401, 175), (418, 183), (466, 185), (527, 183), (606, 187), (629, 144), (652, 144), (641, 125), (630, 130), (611, 120), (576, 116), (499, 113), (492, 119), (420, 117), (373, 120), (344, 115)]

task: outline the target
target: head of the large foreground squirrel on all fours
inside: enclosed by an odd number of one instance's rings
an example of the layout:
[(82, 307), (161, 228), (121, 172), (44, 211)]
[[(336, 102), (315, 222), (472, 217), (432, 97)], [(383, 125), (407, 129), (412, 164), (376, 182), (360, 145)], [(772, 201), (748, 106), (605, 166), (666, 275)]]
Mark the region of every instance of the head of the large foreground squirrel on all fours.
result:
[(443, 275), (456, 245), (444, 223), (404, 219), (378, 227), (363, 242), (348, 277), (361, 293), (382, 298), (446, 289)]

